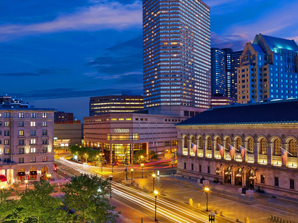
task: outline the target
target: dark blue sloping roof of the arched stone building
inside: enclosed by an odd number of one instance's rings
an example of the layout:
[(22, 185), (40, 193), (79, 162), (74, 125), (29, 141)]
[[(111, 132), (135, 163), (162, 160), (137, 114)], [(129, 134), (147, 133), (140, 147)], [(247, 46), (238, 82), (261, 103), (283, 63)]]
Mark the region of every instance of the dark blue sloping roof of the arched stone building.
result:
[(181, 125), (227, 125), (298, 122), (298, 99), (220, 106), (208, 109)]

